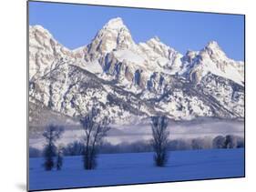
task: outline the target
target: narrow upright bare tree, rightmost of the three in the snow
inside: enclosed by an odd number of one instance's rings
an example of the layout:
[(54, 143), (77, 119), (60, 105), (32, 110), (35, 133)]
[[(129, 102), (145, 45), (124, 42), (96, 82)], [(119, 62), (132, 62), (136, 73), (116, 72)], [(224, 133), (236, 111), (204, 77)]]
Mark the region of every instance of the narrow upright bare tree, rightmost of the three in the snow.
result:
[(169, 143), (168, 120), (166, 116), (152, 116), (152, 147), (155, 151), (156, 166), (164, 167), (168, 161), (167, 147)]

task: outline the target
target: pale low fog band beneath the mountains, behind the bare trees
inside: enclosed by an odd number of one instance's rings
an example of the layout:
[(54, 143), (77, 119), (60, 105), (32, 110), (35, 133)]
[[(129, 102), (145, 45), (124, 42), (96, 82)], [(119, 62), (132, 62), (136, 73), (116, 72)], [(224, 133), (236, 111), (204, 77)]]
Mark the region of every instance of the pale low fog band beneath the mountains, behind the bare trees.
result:
[[(65, 132), (58, 141), (60, 145), (66, 146), (68, 143), (79, 141), (84, 136), (84, 131), (79, 126), (64, 126)], [(29, 146), (35, 148), (44, 147), (44, 137), (42, 131), (29, 133)], [(176, 122), (169, 121), (170, 140), (188, 140), (193, 138), (212, 139), (215, 136), (241, 136), (244, 137), (244, 122), (240, 120), (222, 120), (214, 118), (203, 118), (199, 120)], [(135, 143), (151, 139), (151, 126), (148, 123), (137, 124), (135, 126), (111, 125), (108, 136), (105, 140), (112, 144)]]

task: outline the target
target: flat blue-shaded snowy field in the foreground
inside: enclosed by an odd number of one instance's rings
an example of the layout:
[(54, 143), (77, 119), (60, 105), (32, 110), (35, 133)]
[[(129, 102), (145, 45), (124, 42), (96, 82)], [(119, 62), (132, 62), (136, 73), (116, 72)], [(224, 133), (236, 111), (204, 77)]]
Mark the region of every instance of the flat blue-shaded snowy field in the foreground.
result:
[(29, 159), (29, 189), (96, 187), (122, 184), (244, 176), (244, 149), (169, 152), (166, 167), (155, 167), (152, 153), (106, 154), (97, 169), (84, 170), (82, 157), (65, 157), (61, 171), (46, 172), (42, 158)]

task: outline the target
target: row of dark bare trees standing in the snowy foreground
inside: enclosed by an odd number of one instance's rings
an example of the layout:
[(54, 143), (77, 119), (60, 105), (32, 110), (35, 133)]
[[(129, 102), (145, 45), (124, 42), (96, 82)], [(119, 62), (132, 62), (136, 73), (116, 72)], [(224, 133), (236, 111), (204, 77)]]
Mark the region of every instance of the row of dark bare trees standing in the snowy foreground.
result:
[[(84, 130), (84, 148), (83, 148), (83, 165), (85, 169), (94, 169), (97, 167), (98, 146), (102, 144), (104, 136), (110, 129), (108, 117), (98, 120), (99, 111), (96, 108), (81, 117), (80, 124)], [(168, 143), (169, 131), (168, 120), (165, 116), (151, 117), (152, 140), (151, 145), (154, 148), (154, 161), (156, 166), (163, 167), (168, 160)], [(63, 164), (61, 148), (56, 147), (56, 140), (63, 134), (62, 126), (47, 126), (43, 136), (46, 138), (46, 146), (44, 149), (46, 170), (52, 170), (56, 167), (60, 170)], [(56, 160), (55, 160), (56, 159)]]

